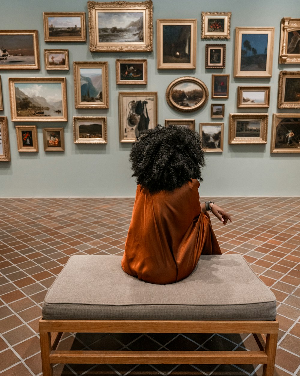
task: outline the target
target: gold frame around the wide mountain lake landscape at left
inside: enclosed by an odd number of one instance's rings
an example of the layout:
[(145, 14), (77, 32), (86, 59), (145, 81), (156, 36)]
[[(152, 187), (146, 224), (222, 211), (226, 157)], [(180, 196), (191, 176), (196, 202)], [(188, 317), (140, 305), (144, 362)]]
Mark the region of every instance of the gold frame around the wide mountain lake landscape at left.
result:
[[(66, 78), (65, 77), (13, 77), (8, 79), (9, 83), (9, 100), (10, 100), (10, 114), (11, 114), (11, 121), (68, 121), (68, 110), (67, 110), (67, 90), (66, 90)], [(17, 100), (16, 100), (16, 84), (23, 84), (26, 83), (28, 85), (32, 85), (32, 88), (39, 84), (41, 88), (43, 84), (47, 85), (48, 83), (57, 83), (60, 87), (60, 95), (62, 101), (62, 110), (53, 110), (55, 115), (46, 115), (44, 114), (44, 110), (48, 111), (45, 107), (37, 106), (36, 110), (32, 109), (32, 106), (28, 106), (27, 109), (23, 111), (28, 111), (28, 115), (26, 112), (21, 113), (21, 110), (18, 108)], [(20, 90), (18, 88), (18, 90)], [(24, 94), (24, 93), (23, 93)], [(37, 93), (37, 96), (41, 96)], [(28, 98), (28, 95), (25, 97)], [(44, 98), (45, 99), (45, 98)], [(58, 101), (59, 102), (59, 101)], [(42, 111), (43, 110), (43, 111)], [(19, 112), (19, 113), (18, 113)]]

